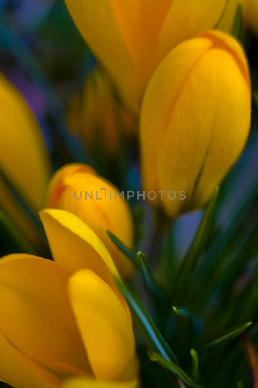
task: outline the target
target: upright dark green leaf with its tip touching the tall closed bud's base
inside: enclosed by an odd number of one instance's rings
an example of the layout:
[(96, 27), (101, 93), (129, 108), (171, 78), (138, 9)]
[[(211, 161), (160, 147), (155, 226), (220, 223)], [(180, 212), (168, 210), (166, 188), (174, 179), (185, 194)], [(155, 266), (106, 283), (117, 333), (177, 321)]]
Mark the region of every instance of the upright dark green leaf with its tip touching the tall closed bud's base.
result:
[[(188, 284), (188, 277), (191, 276), (193, 269), (195, 268), (196, 262), (200, 253), (202, 252), (203, 247), (208, 238), (210, 227), (212, 225), (212, 220), (214, 218), (214, 210), (217, 203), (217, 197), (219, 193), (219, 187), (216, 187), (215, 192), (208, 204), (205, 213), (203, 215), (200, 226), (196, 232), (193, 243), (191, 244), (188, 253), (186, 254), (185, 259), (182, 262), (181, 267), (178, 271), (178, 282), (175, 286), (174, 301), (178, 301), (179, 298), (182, 298), (182, 295), (185, 294), (185, 289)], [(183, 299), (183, 298), (182, 298)]]

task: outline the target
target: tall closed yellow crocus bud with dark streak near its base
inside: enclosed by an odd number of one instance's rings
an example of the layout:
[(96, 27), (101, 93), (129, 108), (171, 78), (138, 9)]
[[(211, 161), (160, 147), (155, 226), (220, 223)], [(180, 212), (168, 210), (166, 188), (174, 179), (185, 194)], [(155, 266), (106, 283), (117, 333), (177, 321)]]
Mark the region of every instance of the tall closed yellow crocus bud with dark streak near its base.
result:
[(169, 217), (202, 208), (243, 150), (250, 116), (248, 64), (236, 40), (204, 31), (173, 49), (142, 104), (143, 186), (164, 191), (150, 203)]

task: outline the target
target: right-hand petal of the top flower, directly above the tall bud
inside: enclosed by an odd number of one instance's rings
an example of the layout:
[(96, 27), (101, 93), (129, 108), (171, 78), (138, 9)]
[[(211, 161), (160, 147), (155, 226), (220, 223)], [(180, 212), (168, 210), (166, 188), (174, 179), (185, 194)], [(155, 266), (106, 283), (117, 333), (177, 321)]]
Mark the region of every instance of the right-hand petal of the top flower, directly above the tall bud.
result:
[[(232, 9), (233, 17), (236, 4), (236, 0), (173, 0), (159, 34), (159, 62), (178, 43), (192, 38), (199, 31), (215, 28), (227, 9)], [(231, 25), (227, 31), (230, 30)]]

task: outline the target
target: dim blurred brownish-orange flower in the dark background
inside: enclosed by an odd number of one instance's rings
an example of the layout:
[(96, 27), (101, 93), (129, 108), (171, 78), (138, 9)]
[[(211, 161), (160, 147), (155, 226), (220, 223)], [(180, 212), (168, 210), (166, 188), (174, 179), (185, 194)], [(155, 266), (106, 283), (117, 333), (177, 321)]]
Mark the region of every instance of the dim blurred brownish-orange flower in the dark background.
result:
[(135, 120), (118, 104), (110, 83), (98, 68), (87, 76), (82, 94), (72, 97), (67, 121), (94, 156), (99, 152), (115, 154), (121, 137), (136, 133)]

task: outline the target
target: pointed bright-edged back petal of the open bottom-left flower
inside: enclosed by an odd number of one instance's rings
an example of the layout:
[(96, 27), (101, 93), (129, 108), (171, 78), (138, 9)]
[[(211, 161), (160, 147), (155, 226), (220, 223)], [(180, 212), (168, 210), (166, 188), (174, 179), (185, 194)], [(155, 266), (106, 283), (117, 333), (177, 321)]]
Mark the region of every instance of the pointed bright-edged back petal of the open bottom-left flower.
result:
[(70, 272), (93, 270), (118, 295), (130, 317), (128, 305), (113, 280), (114, 276), (119, 278), (116, 267), (96, 234), (80, 218), (64, 210), (46, 209), (40, 217), (54, 260)]

